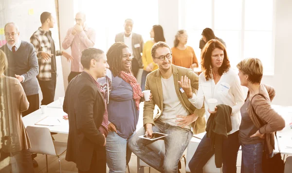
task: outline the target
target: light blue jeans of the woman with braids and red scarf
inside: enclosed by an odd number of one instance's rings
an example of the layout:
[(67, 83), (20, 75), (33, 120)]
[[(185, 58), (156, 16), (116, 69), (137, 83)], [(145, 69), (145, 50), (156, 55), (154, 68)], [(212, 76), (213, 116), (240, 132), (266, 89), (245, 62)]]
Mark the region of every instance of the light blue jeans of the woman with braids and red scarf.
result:
[(131, 137), (125, 139), (115, 132), (109, 132), (106, 144), (107, 164), (110, 168), (109, 173), (126, 172), (126, 167), (130, 161), (132, 154), (127, 146), (128, 141)]

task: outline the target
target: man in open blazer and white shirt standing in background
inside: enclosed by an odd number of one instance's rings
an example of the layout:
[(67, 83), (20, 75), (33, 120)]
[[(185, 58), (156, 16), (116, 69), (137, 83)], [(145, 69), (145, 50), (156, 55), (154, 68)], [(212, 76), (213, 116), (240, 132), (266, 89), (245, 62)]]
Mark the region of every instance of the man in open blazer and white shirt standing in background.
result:
[(119, 33), (115, 37), (115, 42), (124, 42), (131, 53), (132, 59), (132, 72), (134, 77), (137, 78), (137, 74), (140, 68), (143, 68), (142, 53), (144, 47), (144, 41), (140, 34), (132, 32), (134, 22), (132, 19), (126, 19), (124, 23), (125, 31)]

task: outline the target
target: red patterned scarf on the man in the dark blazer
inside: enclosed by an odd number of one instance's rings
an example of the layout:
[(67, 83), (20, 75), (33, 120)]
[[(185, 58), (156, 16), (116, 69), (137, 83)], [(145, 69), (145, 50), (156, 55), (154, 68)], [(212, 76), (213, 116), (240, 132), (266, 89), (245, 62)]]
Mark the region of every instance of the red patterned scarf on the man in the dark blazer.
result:
[[(87, 73), (87, 72), (85, 72)], [(103, 95), (103, 99), (105, 102), (105, 113), (104, 113), (104, 117), (103, 120), (101, 122), (101, 126), (99, 127), (99, 131), (104, 134), (106, 137), (109, 134), (109, 117), (108, 117), (108, 109), (107, 109), (107, 103), (106, 103), (106, 91), (102, 89), (101, 85), (91, 76), (91, 74), (87, 73), (91, 79), (94, 81), (94, 84), (96, 85), (96, 87), (98, 88), (98, 90), (101, 92), (101, 94)]]

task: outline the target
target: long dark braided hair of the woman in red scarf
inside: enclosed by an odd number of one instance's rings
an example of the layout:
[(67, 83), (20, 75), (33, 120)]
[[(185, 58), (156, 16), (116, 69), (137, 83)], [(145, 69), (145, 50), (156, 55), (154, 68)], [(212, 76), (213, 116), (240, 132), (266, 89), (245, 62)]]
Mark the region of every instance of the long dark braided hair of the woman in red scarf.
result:
[(123, 49), (128, 46), (123, 42), (116, 42), (110, 46), (107, 52), (108, 64), (113, 77), (120, 76), (122, 71), (121, 62), (123, 57)]

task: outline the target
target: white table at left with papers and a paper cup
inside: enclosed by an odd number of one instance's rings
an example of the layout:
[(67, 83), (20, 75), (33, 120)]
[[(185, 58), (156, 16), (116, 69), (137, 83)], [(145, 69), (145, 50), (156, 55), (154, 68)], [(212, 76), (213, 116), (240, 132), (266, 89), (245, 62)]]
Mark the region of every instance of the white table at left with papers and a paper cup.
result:
[[(69, 120), (63, 119), (63, 115), (67, 114), (63, 111), (63, 108), (60, 105), (59, 100), (56, 100), (47, 105), (47, 110), (45, 114), (42, 114), (41, 110), (38, 109), (37, 111), (22, 117), (22, 121), (25, 128), (27, 126), (47, 127), (51, 132), (69, 134)], [(35, 123), (45, 118), (46, 116), (56, 117), (60, 121), (60, 125), (55, 126), (35, 125)]]

